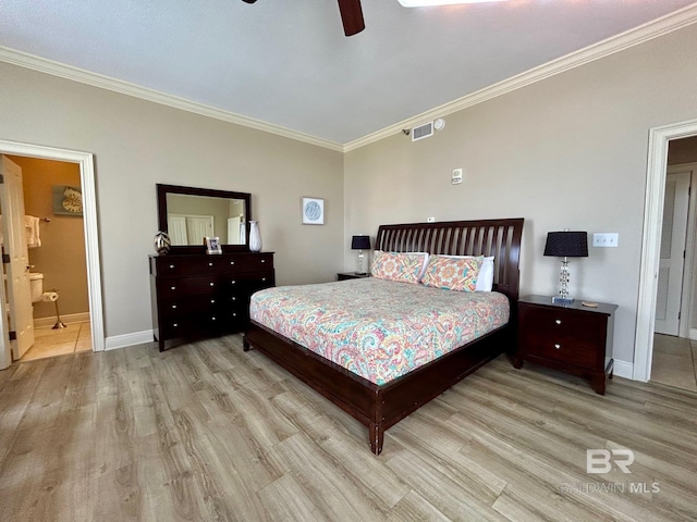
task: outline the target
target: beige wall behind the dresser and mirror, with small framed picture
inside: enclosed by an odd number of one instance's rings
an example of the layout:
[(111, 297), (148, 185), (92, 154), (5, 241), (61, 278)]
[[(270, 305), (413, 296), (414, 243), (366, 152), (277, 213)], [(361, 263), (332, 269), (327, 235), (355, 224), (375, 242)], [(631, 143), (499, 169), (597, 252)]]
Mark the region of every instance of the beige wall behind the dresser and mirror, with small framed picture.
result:
[[(148, 331), (156, 183), (252, 194), (279, 284), (332, 281), (343, 259), (343, 158), (315, 147), (0, 63), (0, 139), (95, 154), (106, 334)], [(301, 198), (326, 199), (325, 226)]]

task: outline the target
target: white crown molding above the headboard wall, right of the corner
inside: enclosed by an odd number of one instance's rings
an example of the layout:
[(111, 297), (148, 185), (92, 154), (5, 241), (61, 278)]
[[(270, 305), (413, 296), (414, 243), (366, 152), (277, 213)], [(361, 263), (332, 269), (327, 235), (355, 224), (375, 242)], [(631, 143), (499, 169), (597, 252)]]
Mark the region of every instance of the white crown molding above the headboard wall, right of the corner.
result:
[(610, 54), (614, 54), (615, 52), (652, 40), (653, 38), (682, 29), (683, 27), (696, 22), (697, 3), (693, 3), (692, 5), (687, 5), (686, 8), (673, 13), (661, 16), (660, 18), (652, 20), (651, 22), (647, 22), (646, 24), (639, 25), (633, 29), (625, 30), (624, 33), (598, 44), (574, 51), (538, 67), (530, 69), (529, 71), (506, 78), (498, 84), (490, 85), (476, 92), (466, 95), (454, 101), (430, 109), (407, 120), (403, 120), (400, 123), (384, 127), (381, 130), (364, 136), (363, 138), (345, 144), (343, 151), (350, 152), (389, 136), (400, 134), (404, 128), (412, 128), (437, 117), (443, 117), (448, 114), (462, 111), (468, 107), (476, 105), (477, 103), (497, 98), (505, 95), (506, 92), (526, 87), (536, 82), (549, 78), (550, 76), (564, 73), (595, 60), (599, 60)]

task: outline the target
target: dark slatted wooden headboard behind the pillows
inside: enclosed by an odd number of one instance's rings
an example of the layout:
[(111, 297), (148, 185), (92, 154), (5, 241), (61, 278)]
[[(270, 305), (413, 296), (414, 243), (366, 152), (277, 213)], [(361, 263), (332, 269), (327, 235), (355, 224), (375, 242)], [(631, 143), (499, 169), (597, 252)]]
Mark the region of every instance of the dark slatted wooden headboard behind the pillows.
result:
[(518, 299), (523, 217), (380, 225), (376, 250), (448, 256), (493, 256), (493, 289)]

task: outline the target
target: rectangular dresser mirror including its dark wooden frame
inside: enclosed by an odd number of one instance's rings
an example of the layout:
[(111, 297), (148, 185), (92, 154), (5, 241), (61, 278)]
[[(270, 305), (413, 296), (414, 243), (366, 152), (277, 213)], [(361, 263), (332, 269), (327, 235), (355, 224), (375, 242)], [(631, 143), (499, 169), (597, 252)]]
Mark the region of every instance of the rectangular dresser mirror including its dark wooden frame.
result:
[(206, 250), (205, 237), (218, 237), (223, 251), (249, 250), (252, 195), (157, 184), (158, 226), (172, 253)]

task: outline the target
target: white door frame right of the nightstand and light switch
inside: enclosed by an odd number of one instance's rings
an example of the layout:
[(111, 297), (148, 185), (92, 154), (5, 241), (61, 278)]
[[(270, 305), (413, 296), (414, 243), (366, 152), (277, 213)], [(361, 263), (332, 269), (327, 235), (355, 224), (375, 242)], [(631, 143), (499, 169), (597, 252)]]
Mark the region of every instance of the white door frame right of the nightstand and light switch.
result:
[(637, 303), (634, 350), (635, 381), (648, 382), (651, 377), (653, 356), (653, 323), (656, 321), (656, 295), (660, 257), (661, 222), (668, 172), (668, 142), (671, 139), (697, 135), (697, 120), (651, 128), (649, 132), (648, 170), (646, 174), (646, 201), (644, 206), (644, 237), (641, 241), (641, 271), (639, 300)]

